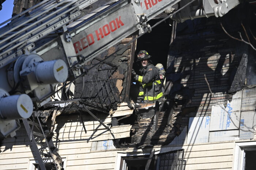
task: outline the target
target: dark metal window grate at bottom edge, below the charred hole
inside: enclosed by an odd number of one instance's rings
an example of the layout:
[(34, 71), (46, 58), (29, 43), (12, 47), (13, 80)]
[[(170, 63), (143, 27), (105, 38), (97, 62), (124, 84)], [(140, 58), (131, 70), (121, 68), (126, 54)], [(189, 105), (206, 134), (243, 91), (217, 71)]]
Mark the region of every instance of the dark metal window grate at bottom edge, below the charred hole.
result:
[(184, 149), (158, 154), (156, 170), (185, 170)]

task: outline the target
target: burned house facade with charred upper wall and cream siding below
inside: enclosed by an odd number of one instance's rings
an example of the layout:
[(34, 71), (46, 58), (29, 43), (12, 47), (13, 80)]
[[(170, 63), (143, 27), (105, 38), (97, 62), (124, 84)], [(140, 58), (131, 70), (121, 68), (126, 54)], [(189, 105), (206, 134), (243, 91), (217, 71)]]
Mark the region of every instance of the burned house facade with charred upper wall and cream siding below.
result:
[[(250, 169), (256, 152), (254, 21), (255, 7), (247, 3), (223, 17), (170, 20), (88, 62), (87, 75), (39, 111), (63, 168)], [(166, 99), (159, 103), (133, 102), (138, 84), (131, 70), (138, 69), (140, 50), (165, 67)], [(36, 169), (30, 147), (22, 125), (16, 137), (1, 140), (0, 169)]]

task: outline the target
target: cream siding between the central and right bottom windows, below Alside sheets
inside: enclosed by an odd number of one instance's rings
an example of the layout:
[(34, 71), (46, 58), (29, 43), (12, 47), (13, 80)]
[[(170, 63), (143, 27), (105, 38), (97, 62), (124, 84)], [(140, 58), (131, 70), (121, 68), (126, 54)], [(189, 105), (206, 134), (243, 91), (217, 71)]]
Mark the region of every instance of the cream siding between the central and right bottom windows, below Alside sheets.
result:
[(203, 143), (164, 147), (161, 152), (184, 149), (186, 170), (230, 169), (233, 165), (234, 142)]

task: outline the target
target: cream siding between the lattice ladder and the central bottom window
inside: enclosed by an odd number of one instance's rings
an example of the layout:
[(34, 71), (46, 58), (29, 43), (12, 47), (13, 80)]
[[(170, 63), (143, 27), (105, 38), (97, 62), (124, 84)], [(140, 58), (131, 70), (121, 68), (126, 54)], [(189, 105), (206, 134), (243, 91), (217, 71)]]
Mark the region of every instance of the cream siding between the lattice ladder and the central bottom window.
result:
[[(66, 122), (72, 117), (72, 122)], [(91, 152), (91, 141), (101, 141), (113, 139), (113, 136), (102, 127), (99, 122), (89, 119), (90, 116), (83, 116), (85, 128), (87, 133), (84, 132), (81, 119), (78, 115), (69, 115), (65, 118), (59, 117), (57, 120), (54, 133), (58, 135), (61, 140), (59, 144), (59, 154), (61, 157), (67, 158), (67, 170), (73, 169), (114, 169), (116, 161), (116, 151), (93, 151)], [(112, 118), (98, 117), (107, 125), (111, 123)], [(115, 138), (129, 137), (130, 125), (113, 126), (111, 129)], [(64, 138), (63, 138), (64, 137)], [(89, 141), (86, 139), (90, 139)]]

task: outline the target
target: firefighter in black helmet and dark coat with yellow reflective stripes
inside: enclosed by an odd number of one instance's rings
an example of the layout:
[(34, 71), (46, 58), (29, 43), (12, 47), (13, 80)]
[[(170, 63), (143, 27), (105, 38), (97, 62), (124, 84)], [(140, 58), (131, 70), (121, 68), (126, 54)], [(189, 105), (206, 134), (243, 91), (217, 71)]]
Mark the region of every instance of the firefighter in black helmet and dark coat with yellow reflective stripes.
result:
[(137, 102), (149, 102), (154, 103), (155, 100), (158, 100), (163, 96), (161, 92), (161, 81), (159, 78), (159, 70), (156, 68), (150, 60), (151, 56), (147, 51), (141, 50), (138, 54), (138, 60), (140, 62), (140, 75), (137, 75), (132, 69), (132, 77), (136, 82), (140, 83), (140, 92), (137, 99)]

